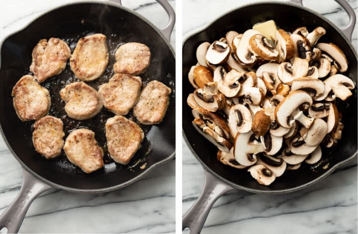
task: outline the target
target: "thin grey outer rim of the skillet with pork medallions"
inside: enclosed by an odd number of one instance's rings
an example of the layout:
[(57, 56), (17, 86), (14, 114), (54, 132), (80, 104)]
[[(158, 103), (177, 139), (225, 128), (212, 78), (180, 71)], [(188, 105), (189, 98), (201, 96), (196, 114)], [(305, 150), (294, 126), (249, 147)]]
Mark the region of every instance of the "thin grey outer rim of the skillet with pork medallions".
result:
[[(109, 1), (98, 2), (98, 1), (88, 0), (88, 1), (81, 1), (81, 2), (69, 2), (69, 3), (66, 3), (66, 4), (61, 4), (61, 5), (56, 6), (54, 8), (45, 10), (42, 13), (40, 13), (36, 18), (34, 18), (31, 21), (29, 21), (28, 23), (26, 23), (24, 26), (20, 27), (19, 29), (16, 29), (15, 31), (13, 31), (13, 32), (7, 34), (5, 37), (3, 37), (3, 39), (0, 40), (0, 70), (1, 70), (1, 50), (2, 50), (3, 42), (5, 40), (7, 40), (9, 37), (13, 36), (16, 33), (19, 33), (21, 31), (25, 30), (28, 26), (30, 26), (32, 23), (34, 23), (34, 21), (38, 20), (39, 18), (41, 18), (45, 14), (51, 13), (51, 12), (53, 12), (55, 10), (58, 10), (60, 8), (63, 8), (63, 7), (67, 7), (67, 6), (71, 6), (71, 5), (81, 5), (81, 4), (109, 5), (109, 6), (114, 6), (114, 7), (117, 7), (117, 8), (121, 8), (122, 10), (125, 10), (128, 13), (134, 14), (135, 16), (137, 16), (140, 19), (142, 19), (144, 22), (148, 23), (149, 26), (151, 26), (157, 32), (157, 34), (164, 39), (165, 43), (167, 44), (167, 46), (169, 47), (170, 51), (172, 52), (172, 54), (174, 56), (174, 59), (176, 59), (175, 51), (174, 51), (173, 46), (170, 44), (170, 41), (163, 35), (163, 33), (160, 31), (159, 28), (157, 28), (152, 22), (150, 22), (144, 16), (142, 16), (139, 13), (129, 9), (128, 7), (116, 4), (114, 2), (109, 2)], [(172, 33), (173, 33), (173, 31), (172, 31)], [(174, 99), (175, 99), (175, 103), (176, 103), (176, 96), (174, 97)], [(10, 144), (7, 141), (7, 138), (5, 137), (5, 135), (3, 133), (1, 122), (0, 122), (0, 133), (1, 133), (2, 139), (5, 142), (8, 150), (10, 151), (12, 156), (20, 163), (20, 165), (21, 165), (23, 170), (29, 172), (36, 179), (38, 179), (38, 180), (40, 180), (40, 181), (42, 181), (42, 182), (54, 187), (54, 188), (62, 189), (62, 190), (69, 191), (69, 192), (102, 193), (102, 192), (110, 192), (110, 191), (114, 191), (114, 190), (117, 190), (117, 189), (124, 188), (124, 187), (126, 187), (126, 186), (128, 186), (130, 184), (133, 184), (136, 181), (140, 180), (142, 177), (144, 177), (146, 174), (148, 174), (154, 168), (158, 167), (159, 165), (165, 164), (166, 162), (169, 162), (170, 160), (174, 159), (175, 156), (176, 156), (176, 150), (174, 150), (174, 152), (171, 153), (170, 155), (168, 155), (165, 159), (160, 160), (160, 161), (152, 164), (150, 167), (147, 168), (147, 170), (143, 171), (138, 176), (136, 176), (136, 177), (124, 182), (124, 183), (117, 184), (117, 185), (110, 186), (110, 187), (106, 187), (106, 188), (101, 188), (101, 189), (78, 189), (78, 188), (72, 188), (72, 187), (68, 187), (68, 186), (59, 185), (57, 183), (54, 183), (54, 182), (52, 182), (50, 180), (45, 179), (44, 177), (40, 176), (36, 172), (32, 171), (25, 163), (22, 162), (22, 160), (17, 156), (17, 154), (11, 148)]]

